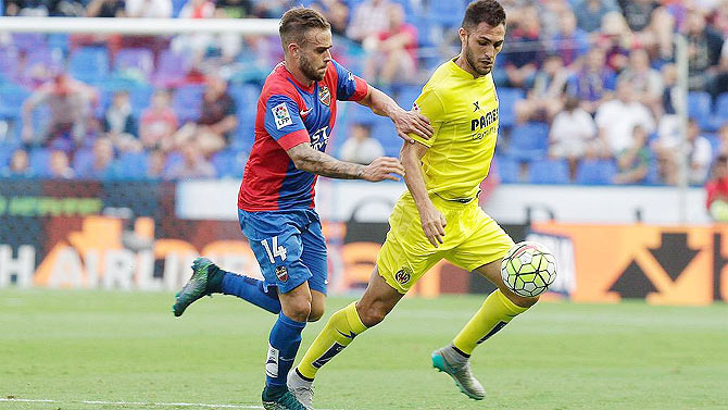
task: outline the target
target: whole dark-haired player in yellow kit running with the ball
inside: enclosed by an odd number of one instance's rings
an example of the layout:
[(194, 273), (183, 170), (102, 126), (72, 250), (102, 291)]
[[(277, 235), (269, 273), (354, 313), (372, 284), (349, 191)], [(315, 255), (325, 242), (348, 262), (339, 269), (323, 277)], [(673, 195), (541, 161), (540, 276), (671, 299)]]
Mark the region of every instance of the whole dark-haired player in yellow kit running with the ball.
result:
[(459, 34), (460, 55), (437, 69), (415, 101), (414, 109), (430, 120), (435, 134), (428, 140), (413, 135), (417, 142), (402, 147), (409, 190), (394, 206), (366, 291), (331, 315), (289, 373), (289, 389), (307, 408), (317, 370), (381, 322), (442, 258), (498, 286), (452, 343), (432, 352), (432, 365), (470, 398), (485, 397), (468, 362), (473, 350), (538, 300), (517, 296), (503, 284), (501, 260), (514, 244), (477, 201), (498, 136), (498, 96), (490, 72), (505, 37), (503, 8), (495, 0), (474, 1)]

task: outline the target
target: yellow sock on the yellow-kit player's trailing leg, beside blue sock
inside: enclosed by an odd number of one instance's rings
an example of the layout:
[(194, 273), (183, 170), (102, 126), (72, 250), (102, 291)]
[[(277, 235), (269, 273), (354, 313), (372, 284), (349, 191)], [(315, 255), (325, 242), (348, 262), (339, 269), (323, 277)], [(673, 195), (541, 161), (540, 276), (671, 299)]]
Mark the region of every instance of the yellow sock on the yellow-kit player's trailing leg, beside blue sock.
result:
[(309, 350), (303, 355), (303, 359), (298, 365), (299, 373), (313, 380), (322, 365), (349, 346), (351, 340), (364, 331), (366, 331), (366, 326), (356, 313), (356, 302), (352, 302), (334, 313), (326, 326), (316, 336), (316, 339), (313, 340)]

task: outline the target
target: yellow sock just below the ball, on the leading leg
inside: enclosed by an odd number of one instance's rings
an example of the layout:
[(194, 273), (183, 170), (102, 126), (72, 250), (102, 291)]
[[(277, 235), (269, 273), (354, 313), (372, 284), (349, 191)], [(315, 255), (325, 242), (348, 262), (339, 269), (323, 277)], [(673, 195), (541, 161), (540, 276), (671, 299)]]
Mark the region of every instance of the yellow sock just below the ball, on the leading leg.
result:
[(526, 310), (528, 308), (516, 306), (500, 289), (495, 289), (488, 295), (480, 309), (460, 331), (452, 344), (462, 352), (470, 355), (479, 344), (486, 341), (511, 322), (511, 319)]

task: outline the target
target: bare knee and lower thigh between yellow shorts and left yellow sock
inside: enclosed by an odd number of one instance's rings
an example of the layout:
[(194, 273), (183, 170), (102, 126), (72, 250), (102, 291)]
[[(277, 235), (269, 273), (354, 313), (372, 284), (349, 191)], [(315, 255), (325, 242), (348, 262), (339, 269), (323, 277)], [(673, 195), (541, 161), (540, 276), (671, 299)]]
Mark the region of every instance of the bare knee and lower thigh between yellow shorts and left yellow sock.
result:
[(403, 296), (387, 283), (375, 264), (366, 290), (356, 302), (359, 318), (366, 327), (372, 327), (381, 322)]

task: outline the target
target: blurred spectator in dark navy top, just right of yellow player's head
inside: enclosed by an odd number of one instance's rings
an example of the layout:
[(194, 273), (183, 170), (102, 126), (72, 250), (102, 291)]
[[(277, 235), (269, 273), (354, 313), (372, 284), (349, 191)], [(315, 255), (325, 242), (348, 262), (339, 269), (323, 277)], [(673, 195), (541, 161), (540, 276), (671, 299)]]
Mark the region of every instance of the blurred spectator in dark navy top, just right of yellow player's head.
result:
[(505, 86), (529, 88), (540, 64), (541, 45), (538, 42), (541, 26), (535, 7), (522, 9), (513, 27), (509, 27), (503, 67)]

